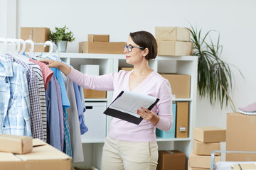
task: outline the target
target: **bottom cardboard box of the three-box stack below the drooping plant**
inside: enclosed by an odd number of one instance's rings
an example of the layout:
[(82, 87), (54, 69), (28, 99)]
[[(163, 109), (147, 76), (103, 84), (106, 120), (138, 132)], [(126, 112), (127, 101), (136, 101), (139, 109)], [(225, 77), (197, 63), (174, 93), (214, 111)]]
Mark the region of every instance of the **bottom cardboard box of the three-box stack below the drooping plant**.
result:
[[(220, 162), (220, 156), (215, 156), (215, 162)], [(193, 151), (189, 156), (189, 167), (191, 168), (210, 168), (210, 156), (208, 155), (197, 155)]]

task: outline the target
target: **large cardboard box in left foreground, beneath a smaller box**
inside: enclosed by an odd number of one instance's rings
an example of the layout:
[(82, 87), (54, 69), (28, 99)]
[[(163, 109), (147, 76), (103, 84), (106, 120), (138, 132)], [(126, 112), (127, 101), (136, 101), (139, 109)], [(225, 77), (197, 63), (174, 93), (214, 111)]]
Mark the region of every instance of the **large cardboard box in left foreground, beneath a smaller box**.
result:
[(4, 170), (71, 170), (72, 158), (46, 142), (33, 139), (27, 154), (0, 152), (0, 169)]

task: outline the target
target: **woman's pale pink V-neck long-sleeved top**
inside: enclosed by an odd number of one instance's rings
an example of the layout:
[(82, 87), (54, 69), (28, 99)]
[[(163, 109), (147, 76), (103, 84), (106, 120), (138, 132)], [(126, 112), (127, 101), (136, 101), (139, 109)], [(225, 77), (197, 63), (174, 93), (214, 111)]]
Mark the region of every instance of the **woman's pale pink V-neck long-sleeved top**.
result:
[[(114, 100), (121, 91), (130, 91), (129, 76), (132, 72), (133, 70), (130, 72), (121, 70), (116, 73), (91, 76), (82, 74), (72, 68), (67, 77), (85, 89), (114, 91), (112, 98)], [(154, 113), (158, 113), (160, 117), (156, 128), (169, 131), (173, 122), (172, 95), (169, 81), (154, 71), (133, 91), (159, 98), (159, 102), (151, 110)], [(154, 142), (156, 140), (155, 126), (149, 120), (142, 120), (139, 125), (136, 125), (125, 120), (113, 118), (109, 135), (116, 140), (129, 142)]]

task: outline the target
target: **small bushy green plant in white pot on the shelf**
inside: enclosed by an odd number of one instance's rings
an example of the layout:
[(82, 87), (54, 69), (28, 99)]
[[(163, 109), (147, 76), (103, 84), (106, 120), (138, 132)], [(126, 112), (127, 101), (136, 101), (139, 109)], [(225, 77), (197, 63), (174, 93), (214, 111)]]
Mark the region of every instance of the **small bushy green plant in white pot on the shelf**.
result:
[(55, 31), (50, 30), (49, 39), (55, 42), (60, 52), (66, 52), (68, 42), (75, 40), (73, 32), (68, 31), (66, 26), (63, 28), (55, 27)]

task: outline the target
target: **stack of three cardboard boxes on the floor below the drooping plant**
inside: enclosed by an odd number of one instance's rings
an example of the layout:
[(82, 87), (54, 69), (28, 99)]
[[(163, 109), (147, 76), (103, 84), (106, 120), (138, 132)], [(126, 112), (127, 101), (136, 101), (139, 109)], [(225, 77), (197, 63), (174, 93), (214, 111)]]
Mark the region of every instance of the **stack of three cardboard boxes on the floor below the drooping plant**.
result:
[[(217, 127), (194, 128), (188, 170), (210, 169), (211, 151), (220, 150), (220, 142), (225, 142), (225, 134), (226, 130)], [(220, 162), (220, 153), (215, 155), (215, 162)]]

